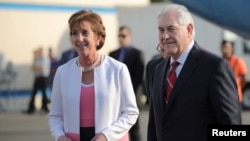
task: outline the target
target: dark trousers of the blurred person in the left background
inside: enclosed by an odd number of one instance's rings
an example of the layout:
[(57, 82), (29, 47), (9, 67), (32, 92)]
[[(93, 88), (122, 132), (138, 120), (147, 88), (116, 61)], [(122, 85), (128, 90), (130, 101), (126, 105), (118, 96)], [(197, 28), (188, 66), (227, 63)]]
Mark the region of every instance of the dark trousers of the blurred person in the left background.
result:
[(33, 84), (33, 88), (32, 88), (32, 93), (31, 93), (31, 99), (29, 102), (29, 112), (34, 112), (35, 111), (35, 97), (37, 94), (38, 90), (42, 91), (42, 107), (41, 110), (48, 112), (48, 97), (46, 94), (46, 88), (47, 88), (47, 77), (36, 77), (34, 84)]

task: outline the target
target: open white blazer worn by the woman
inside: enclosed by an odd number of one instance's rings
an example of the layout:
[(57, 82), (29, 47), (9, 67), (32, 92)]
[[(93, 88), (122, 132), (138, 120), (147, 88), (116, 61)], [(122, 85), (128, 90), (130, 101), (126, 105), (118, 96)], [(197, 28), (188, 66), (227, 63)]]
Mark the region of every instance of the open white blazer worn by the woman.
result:
[[(95, 132), (103, 133), (108, 141), (117, 141), (135, 124), (139, 110), (127, 66), (103, 56), (94, 69)], [(48, 115), (55, 141), (65, 132), (79, 134), (82, 73), (76, 60), (60, 66), (55, 74)]]

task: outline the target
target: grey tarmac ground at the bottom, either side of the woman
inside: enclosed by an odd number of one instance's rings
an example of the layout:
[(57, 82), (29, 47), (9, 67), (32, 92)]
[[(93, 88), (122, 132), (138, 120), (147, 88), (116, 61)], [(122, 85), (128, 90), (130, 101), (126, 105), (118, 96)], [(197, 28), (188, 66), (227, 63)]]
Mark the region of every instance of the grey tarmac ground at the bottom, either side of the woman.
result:
[[(142, 141), (146, 141), (148, 110), (140, 114)], [(250, 125), (250, 111), (242, 112), (243, 124)], [(1, 141), (53, 141), (45, 113), (26, 115), (21, 112), (0, 112)]]

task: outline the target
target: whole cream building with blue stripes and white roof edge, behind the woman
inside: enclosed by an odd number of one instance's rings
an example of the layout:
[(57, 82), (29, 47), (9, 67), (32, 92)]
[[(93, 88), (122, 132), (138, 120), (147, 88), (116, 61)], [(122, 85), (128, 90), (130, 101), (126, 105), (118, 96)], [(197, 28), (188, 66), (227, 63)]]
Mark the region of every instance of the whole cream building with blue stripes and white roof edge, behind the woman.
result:
[[(0, 80), (7, 62), (17, 70), (14, 83), (0, 81), (0, 111), (27, 108), (34, 78), (30, 69), (33, 51), (39, 46), (45, 51), (51, 47), (59, 59), (64, 50), (71, 48), (67, 21), (72, 13), (85, 8), (101, 15), (107, 36), (100, 53), (107, 54), (118, 46), (116, 7), (148, 4), (149, 0), (0, 0)], [(35, 102), (38, 109), (39, 93)]]

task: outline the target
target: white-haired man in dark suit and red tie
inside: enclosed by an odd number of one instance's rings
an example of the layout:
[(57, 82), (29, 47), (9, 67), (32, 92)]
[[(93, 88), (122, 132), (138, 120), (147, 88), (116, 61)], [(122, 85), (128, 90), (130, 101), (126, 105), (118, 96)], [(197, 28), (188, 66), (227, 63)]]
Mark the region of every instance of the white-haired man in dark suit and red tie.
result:
[[(158, 15), (158, 29), (169, 59), (154, 70), (147, 140), (207, 141), (209, 125), (241, 124), (233, 71), (224, 59), (194, 41), (190, 12), (182, 5), (164, 7)], [(177, 80), (167, 93), (167, 73), (173, 72), (170, 66), (175, 61), (179, 62)]]

